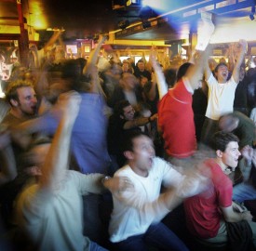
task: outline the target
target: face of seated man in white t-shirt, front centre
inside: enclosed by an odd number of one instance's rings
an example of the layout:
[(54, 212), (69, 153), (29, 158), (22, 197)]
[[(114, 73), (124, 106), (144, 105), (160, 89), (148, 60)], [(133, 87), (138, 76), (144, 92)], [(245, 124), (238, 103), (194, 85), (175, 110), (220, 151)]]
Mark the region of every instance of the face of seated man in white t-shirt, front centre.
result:
[(147, 173), (153, 165), (155, 148), (152, 139), (140, 136), (133, 139), (132, 162), (141, 173)]

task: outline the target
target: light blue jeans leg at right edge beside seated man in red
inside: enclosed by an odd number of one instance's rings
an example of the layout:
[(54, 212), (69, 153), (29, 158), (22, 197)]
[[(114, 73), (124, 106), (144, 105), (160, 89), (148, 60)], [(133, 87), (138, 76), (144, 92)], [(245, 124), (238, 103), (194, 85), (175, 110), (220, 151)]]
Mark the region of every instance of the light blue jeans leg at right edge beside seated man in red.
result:
[(233, 188), (234, 201), (242, 203), (245, 200), (255, 200), (256, 190), (249, 184), (240, 183)]

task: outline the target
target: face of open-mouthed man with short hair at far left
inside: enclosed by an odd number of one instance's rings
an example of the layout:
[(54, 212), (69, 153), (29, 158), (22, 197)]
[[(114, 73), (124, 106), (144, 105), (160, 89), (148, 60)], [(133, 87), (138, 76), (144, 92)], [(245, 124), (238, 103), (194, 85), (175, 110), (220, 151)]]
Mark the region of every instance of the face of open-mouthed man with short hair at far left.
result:
[(37, 104), (34, 88), (30, 86), (20, 87), (17, 89), (17, 94), (20, 111), (26, 115), (34, 115)]

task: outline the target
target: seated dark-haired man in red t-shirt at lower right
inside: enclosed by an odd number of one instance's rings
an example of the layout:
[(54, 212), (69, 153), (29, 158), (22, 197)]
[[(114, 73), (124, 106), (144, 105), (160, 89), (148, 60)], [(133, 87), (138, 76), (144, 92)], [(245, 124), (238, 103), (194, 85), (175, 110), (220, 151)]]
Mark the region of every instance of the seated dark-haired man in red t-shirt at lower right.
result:
[(206, 242), (227, 243), (226, 222), (244, 220), (249, 223), (245, 228), (250, 227), (255, 244), (256, 223), (251, 221), (249, 211), (235, 211), (232, 202), (233, 184), (226, 175), (228, 167), (236, 168), (238, 164), (241, 155), (238, 151), (239, 139), (232, 133), (218, 132), (212, 141), (216, 158), (206, 160), (201, 170), (211, 182), (208, 190), (184, 201), (187, 228), (192, 235)]

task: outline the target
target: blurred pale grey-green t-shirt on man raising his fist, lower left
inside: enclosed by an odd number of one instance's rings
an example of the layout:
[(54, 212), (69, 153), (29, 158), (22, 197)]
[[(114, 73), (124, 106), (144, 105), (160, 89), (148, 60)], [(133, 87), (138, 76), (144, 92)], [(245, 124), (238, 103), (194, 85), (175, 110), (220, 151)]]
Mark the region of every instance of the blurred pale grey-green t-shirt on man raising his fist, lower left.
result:
[(39, 250), (89, 250), (90, 241), (83, 235), (82, 195), (102, 192), (97, 186), (101, 177), (69, 170), (58, 191), (39, 190), (34, 184), (21, 192), (17, 220)]

